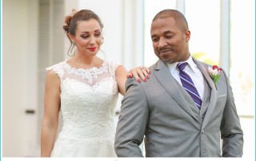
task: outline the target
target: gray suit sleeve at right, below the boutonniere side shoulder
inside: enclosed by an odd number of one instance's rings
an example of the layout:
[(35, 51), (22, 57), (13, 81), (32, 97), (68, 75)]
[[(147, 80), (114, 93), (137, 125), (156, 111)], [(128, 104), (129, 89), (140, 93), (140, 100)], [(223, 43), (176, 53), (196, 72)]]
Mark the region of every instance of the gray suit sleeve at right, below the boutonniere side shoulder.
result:
[[(224, 71), (223, 71), (224, 73)], [(227, 100), (222, 116), (222, 155), (224, 157), (242, 157), (243, 132), (234, 104), (234, 96), (226, 73), (223, 75), (227, 84)]]

